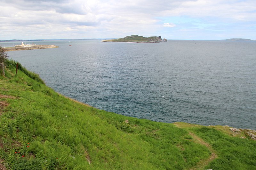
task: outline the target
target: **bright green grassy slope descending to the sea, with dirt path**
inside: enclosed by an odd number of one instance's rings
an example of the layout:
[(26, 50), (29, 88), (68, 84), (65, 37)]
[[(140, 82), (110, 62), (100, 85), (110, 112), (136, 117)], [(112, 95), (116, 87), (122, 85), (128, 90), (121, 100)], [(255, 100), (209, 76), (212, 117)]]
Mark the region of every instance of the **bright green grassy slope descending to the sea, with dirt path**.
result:
[(9, 65), (0, 76), (0, 164), (7, 168), (256, 169), (256, 141), (98, 110), (20, 69), (26, 74)]

